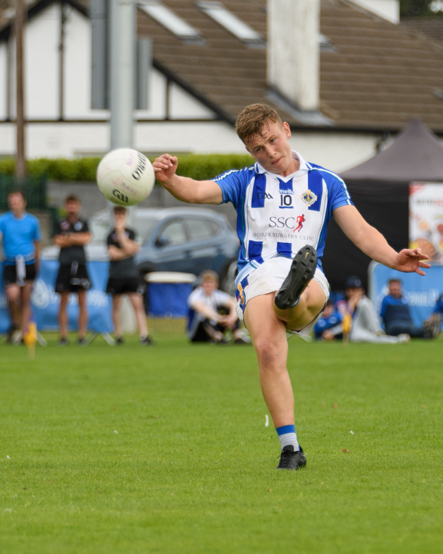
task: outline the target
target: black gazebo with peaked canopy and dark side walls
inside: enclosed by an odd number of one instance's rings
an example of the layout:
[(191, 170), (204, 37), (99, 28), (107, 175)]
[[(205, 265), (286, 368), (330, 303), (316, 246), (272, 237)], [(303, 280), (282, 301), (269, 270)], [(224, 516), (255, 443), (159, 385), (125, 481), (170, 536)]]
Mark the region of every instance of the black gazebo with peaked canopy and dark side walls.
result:
[[(413, 119), (391, 146), (340, 175), (363, 218), (397, 251), (408, 247), (409, 183), (443, 181), (443, 148), (420, 119)], [(348, 275), (368, 287), (370, 258), (331, 221), (322, 258), (333, 290), (343, 290)]]

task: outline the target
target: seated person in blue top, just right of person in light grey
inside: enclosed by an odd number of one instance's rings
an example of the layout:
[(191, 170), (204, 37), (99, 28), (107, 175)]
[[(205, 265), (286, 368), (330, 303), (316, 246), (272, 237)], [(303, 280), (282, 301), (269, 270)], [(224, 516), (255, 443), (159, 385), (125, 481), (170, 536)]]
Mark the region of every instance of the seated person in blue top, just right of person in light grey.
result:
[(407, 333), (418, 338), (434, 338), (432, 325), (420, 327), (414, 324), (407, 299), (403, 296), (400, 279), (388, 281), (389, 294), (383, 298), (380, 316), (385, 323), (386, 334), (398, 336)]

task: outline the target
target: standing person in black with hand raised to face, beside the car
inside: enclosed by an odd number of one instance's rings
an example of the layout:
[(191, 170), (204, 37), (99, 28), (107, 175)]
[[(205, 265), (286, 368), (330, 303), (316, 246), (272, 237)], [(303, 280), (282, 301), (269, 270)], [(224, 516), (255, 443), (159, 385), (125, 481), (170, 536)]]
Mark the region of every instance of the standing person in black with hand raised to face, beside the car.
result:
[(123, 344), (121, 332), (120, 301), (121, 295), (127, 294), (134, 308), (140, 344), (152, 345), (148, 335), (143, 292), (139, 270), (134, 262), (134, 255), (139, 249), (135, 242), (135, 233), (125, 227), (126, 209), (123, 206), (114, 208), (115, 227), (108, 235), (108, 253), (110, 257), (109, 280), (106, 292), (112, 295), (112, 320), (114, 321), (117, 345)]

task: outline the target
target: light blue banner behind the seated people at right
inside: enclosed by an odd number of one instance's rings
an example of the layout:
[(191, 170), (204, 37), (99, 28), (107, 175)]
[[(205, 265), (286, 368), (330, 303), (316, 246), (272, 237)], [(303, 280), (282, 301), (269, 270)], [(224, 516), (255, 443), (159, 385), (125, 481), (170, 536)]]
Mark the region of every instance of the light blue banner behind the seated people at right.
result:
[(369, 297), (380, 313), (381, 302), (387, 295), (387, 281), (400, 279), (403, 283), (403, 295), (411, 308), (411, 316), (416, 325), (422, 325), (435, 307), (435, 302), (443, 293), (443, 266), (432, 266), (424, 270), (426, 275), (418, 273), (400, 273), (377, 262), (369, 266)]

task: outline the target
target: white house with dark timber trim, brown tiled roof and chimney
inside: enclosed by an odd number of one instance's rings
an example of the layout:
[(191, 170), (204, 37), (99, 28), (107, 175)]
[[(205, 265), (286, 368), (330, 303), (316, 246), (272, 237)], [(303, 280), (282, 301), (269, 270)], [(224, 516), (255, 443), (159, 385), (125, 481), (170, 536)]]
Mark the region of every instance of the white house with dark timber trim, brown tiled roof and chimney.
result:
[[(110, 113), (91, 108), (87, 1), (27, 10), (27, 157), (104, 154)], [(335, 171), (371, 157), (417, 115), (443, 135), (442, 47), (398, 25), (398, 13), (398, 0), (139, 0), (137, 34), (152, 40), (152, 67), (134, 148), (242, 152), (233, 123), (252, 102), (276, 107), (294, 149)], [(0, 1), (2, 156), (15, 150), (13, 21)]]

